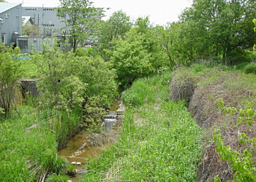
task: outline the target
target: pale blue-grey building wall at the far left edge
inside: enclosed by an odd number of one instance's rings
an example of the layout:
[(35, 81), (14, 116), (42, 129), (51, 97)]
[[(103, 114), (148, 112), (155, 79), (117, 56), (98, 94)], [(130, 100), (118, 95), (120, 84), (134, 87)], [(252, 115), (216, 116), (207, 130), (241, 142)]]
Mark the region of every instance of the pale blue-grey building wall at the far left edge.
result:
[(18, 32), (22, 34), (22, 17), (21, 17), (21, 4), (8, 9), (0, 14), (3, 23), (0, 23), (0, 41), (3, 34), (6, 35), (7, 46), (11, 42), (15, 42), (15, 35), (13, 33)]

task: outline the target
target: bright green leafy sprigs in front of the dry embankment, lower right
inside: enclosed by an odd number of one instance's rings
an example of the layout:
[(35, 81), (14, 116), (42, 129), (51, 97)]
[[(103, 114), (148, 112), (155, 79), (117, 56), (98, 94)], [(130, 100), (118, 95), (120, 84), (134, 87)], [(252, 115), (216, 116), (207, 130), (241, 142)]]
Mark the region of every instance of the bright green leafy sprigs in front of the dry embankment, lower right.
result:
[[(219, 109), (222, 110), (223, 114), (238, 115), (238, 124), (246, 123), (251, 127), (256, 119), (256, 111), (249, 107), (238, 110), (234, 107), (226, 107), (223, 100), (219, 100)], [(246, 133), (238, 133), (238, 141), (239, 143), (252, 144), (255, 148), (256, 138), (249, 138)], [(214, 142), (217, 146), (217, 153), (222, 155), (221, 160), (229, 162), (232, 165), (233, 172), (236, 172), (233, 176), (233, 181), (256, 181), (254, 157), (249, 147), (240, 152), (233, 150), (230, 146), (225, 146), (220, 134), (214, 135)], [(219, 181), (219, 178), (215, 178), (214, 181)]]

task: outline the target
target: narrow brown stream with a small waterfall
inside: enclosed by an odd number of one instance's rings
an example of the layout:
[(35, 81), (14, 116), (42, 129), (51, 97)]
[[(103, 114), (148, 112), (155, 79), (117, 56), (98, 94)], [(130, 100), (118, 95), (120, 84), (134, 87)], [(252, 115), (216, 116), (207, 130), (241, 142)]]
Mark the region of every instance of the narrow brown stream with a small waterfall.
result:
[(113, 103), (108, 115), (102, 122), (102, 133), (79, 132), (75, 137), (67, 141), (64, 149), (59, 151), (61, 157), (66, 157), (70, 164), (75, 165), (78, 173), (71, 181), (78, 181), (86, 171), (84, 167), (88, 157), (96, 158), (106, 146), (110, 146), (118, 138), (122, 125), (124, 107), (121, 102)]

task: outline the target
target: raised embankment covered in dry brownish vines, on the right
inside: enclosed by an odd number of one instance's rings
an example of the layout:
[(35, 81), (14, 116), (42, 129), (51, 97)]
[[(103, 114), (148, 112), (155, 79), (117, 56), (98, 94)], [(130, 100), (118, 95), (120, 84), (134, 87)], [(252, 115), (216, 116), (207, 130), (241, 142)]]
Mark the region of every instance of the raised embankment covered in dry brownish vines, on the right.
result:
[[(249, 138), (255, 137), (256, 125), (253, 116), (250, 117), (251, 127), (246, 122), (238, 122), (239, 118), (246, 119), (249, 114), (246, 113), (247, 110), (251, 112), (256, 108), (256, 76), (253, 74), (255, 65), (250, 63), (233, 67), (213, 67), (195, 64), (188, 68), (178, 68), (173, 74), (170, 83), (171, 98), (187, 100), (189, 112), (205, 130), (205, 150), (197, 171), (198, 181), (213, 181), (217, 175), (223, 181), (231, 180), (236, 171), (248, 178), (256, 175), (252, 167), (255, 165), (254, 146), (252, 143), (241, 143), (238, 140), (241, 133), (246, 133)], [(223, 100), (227, 112), (223, 113), (223, 110), (219, 109), (219, 100)], [(239, 114), (244, 109), (245, 114)], [(230, 146), (227, 150), (220, 149), (222, 154), (229, 155), (226, 158), (228, 163), (220, 162), (222, 155), (216, 152), (217, 146), (212, 138), (217, 133), (221, 134), (225, 146)], [(244, 164), (244, 149), (252, 153), (252, 164)], [(233, 170), (233, 162), (241, 164), (240, 169), (246, 169), (247, 174), (242, 170)], [(248, 175), (250, 173), (251, 177)]]

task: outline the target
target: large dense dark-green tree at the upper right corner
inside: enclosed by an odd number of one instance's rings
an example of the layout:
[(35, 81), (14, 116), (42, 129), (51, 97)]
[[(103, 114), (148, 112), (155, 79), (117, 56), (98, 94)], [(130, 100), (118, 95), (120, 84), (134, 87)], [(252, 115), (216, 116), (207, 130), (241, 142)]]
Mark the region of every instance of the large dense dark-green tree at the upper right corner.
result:
[(252, 47), (255, 12), (256, 2), (252, 0), (195, 0), (181, 20), (193, 30), (197, 58), (221, 56), (226, 63), (235, 63), (242, 59), (243, 50)]

